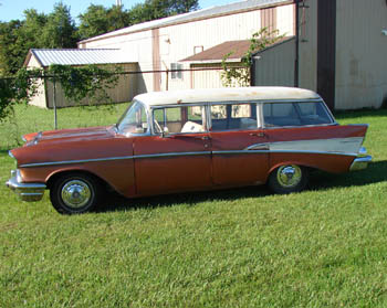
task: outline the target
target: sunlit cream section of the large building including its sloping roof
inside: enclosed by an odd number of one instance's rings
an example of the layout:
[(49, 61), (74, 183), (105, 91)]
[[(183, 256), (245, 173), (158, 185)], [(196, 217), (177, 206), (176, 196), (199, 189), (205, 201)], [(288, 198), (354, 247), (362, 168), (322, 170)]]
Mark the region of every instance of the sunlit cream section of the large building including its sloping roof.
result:
[[(220, 71), (170, 71), (219, 67), (222, 56), (234, 46), (228, 42), (245, 42), (262, 28), (294, 35), (294, 15), (293, 0), (245, 0), (136, 24), (84, 40), (79, 47), (121, 49), (136, 59), (144, 72), (137, 79), (140, 93), (215, 87), (221, 86)], [(249, 41), (245, 45), (244, 51)], [(206, 63), (195, 57), (213, 47), (218, 59)], [(156, 73), (146, 73), (149, 71)]]

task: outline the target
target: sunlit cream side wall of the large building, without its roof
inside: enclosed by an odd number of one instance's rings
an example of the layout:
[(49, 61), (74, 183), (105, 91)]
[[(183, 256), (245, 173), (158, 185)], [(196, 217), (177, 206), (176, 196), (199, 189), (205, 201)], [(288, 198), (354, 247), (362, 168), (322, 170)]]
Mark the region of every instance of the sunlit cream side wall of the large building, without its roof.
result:
[[(262, 19), (264, 17), (264, 20)], [(281, 20), (280, 20), (281, 18)], [(198, 20), (182, 24), (164, 26), (156, 30), (119, 35), (101, 41), (82, 44), (82, 47), (117, 47), (127, 51), (132, 59), (138, 60), (139, 70), (170, 70), (171, 63), (178, 63), (196, 52), (207, 50), (226, 41), (247, 40), (258, 32), (261, 26), (279, 29), (280, 34), (292, 35), (293, 6), (275, 9), (255, 10), (231, 15)], [(271, 24), (276, 21), (276, 25)], [(292, 32), (292, 33), (290, 33)], [(158, 35), (158, 38), (155, 38)], [(159, 61), (159, 62), (157, 62)], [(180, 63), (182, 68), (189, 68), (189, 63)], [(182, 78), (171, 78), (171, 74), (142, 74), (138, 76), (139, 93), (177, 88), (191, 88), (198, 82), (195, 72), (182, 73)], [(218, 78), (217, 73), (202, 74)], [(218, 81), (216, 83), (219, 83)], [(195, 86), (196, 87), (196, 86)]]

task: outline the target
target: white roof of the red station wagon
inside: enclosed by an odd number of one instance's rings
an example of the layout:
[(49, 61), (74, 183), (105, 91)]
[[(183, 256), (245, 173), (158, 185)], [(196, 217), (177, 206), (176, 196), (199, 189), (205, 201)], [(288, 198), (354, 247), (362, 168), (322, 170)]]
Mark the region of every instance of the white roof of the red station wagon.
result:
[(318, 94), (310, 89), (269, 86), (150, 92), (137, 95), (134, 98), (134, 100), (139, 100), (147, 106), (215, 102), (293, 99), (321, 99), (321, 97)]

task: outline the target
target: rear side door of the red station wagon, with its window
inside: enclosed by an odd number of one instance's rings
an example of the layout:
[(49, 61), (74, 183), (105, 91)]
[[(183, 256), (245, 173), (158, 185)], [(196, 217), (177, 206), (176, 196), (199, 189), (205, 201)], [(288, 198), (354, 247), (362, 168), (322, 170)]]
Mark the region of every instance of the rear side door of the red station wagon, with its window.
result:
[(259, 128), (257, 104), (212, 104), (209, 108), (213, 183), (264, 183), (269, 169), (269, 149), (266, 136)]

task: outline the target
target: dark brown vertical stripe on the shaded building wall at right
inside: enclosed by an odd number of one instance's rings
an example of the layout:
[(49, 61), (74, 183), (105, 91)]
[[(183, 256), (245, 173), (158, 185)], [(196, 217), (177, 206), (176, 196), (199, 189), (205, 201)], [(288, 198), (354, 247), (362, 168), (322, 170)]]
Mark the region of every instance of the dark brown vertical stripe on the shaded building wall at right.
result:
[(336, 0), (318, 0), (317, 93), (335, 108)]

